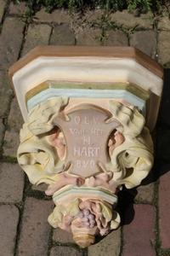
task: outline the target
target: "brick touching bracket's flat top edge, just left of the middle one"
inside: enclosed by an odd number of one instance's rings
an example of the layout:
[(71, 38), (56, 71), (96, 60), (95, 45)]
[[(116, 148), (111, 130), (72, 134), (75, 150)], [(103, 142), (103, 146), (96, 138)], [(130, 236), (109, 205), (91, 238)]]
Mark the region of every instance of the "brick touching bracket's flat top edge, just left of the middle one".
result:
[(56, 25), (51, 36), (50, 44), (74, 45), (75, 35), (67, 24)]

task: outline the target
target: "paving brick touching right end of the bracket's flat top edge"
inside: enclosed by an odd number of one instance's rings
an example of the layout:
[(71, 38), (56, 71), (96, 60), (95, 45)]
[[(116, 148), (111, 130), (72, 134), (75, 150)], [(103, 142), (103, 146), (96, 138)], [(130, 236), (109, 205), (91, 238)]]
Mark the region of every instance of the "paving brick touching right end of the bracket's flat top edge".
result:
[(106, 32), (106, 39), (104, 44), (107, 46), (127, 46), (127, 35), (125, 32), (118, 30)]

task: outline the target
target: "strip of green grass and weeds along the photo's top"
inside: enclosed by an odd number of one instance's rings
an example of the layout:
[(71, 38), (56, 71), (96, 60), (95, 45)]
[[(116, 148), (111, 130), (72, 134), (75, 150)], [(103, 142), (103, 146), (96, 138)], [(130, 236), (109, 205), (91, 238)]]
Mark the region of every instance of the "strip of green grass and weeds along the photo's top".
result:
[[(14, 3), (20, 4), (21, 0), (13, 0)], [(30, 15), (44, 7), (48, 13), (54, 9), (64, 8), (75, 10), (88, 9), (108, 9), (111, 11), (127, 9), (135, 15), (152, 11), (160, 13), (167, 9), (170, 11), (169, 0), (27, 0), (27, 7)]]

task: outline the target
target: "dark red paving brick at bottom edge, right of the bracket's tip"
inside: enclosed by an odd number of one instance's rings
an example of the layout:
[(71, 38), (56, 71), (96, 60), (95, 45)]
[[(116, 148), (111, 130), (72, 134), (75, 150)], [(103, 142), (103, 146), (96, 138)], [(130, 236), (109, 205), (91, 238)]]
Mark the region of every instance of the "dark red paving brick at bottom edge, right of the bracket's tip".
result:
[[(129, 218), (129, 212), (126, 212)], [(126, 223), (126, 222), (125, 222)], [(123, 256), (154, 256), (155, 208), (150, 205), (134, 205), (134, 218), (123, 228)]]

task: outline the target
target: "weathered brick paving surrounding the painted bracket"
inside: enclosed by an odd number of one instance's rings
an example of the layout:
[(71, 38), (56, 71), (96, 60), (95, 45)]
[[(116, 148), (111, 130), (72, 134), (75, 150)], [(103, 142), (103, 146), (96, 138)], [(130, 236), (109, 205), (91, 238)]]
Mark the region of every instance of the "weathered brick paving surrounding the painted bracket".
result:
[[(0, 256), (152, 256), (170, 255), (170, 20), (167, 16), (134, 17), (127, 11), (100, 10), (69, 15), (40, 10), (33, 20), (19, 7), (0, 0)], [(138, 189), (122, 191), (122, 226), (88, 249), (47, 223), (52, 201), (43, 187), (31, 186), (16, 163), (23, 123), (8, 67), (37, 45), (132, 45), (165, 69), (165, 89), (156, 131), (156, 163)], [(121, 201), (121, 200), (120, 200)]]

